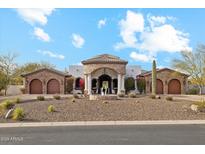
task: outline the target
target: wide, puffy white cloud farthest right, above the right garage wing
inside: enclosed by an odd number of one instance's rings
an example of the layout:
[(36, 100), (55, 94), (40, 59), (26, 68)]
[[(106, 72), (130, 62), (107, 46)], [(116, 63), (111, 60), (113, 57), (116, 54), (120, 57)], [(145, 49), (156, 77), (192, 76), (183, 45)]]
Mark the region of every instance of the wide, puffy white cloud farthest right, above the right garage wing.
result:
[(142, 41), (140, 49), (149, 52), (177, 52), (190, 49), (188, 34), (168, 24), (143, 32), (140, 40)]

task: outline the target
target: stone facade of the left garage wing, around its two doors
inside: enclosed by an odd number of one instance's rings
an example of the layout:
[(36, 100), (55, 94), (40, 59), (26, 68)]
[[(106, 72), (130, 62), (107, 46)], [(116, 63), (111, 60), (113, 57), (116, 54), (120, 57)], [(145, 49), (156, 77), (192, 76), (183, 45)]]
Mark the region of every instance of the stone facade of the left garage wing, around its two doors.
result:
[(40, 72), (36, 72), (36, 73), (25, 76), (25, 91), (27, 94), (29, 94), (29, 91), (30, 91), (30, 83), (34, 79), (38, 79), (42, 82), (43, 94), (47, 93), (47, 83), (51, 79), (58, 80), (60, 83), (60, 93), (61, 94), (65, 93), (65, 77), (60, 74), (48, 71), (48, 70), (42, 70)]

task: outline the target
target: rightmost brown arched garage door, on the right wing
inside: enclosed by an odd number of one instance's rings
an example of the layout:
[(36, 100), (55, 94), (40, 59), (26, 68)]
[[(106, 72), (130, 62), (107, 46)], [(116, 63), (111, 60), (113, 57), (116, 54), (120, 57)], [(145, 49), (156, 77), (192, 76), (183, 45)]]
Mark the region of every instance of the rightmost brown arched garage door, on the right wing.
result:
[(168, 94), (181, 94), (181, 84), (177, 79), (172, 79), (168, 84)]

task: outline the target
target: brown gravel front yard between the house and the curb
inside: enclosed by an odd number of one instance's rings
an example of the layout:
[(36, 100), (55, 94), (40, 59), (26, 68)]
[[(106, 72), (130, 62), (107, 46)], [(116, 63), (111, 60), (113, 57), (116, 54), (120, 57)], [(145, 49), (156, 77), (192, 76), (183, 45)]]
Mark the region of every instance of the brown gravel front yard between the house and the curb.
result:
[[(205, 113), (190, 110), (193, 103), (186, 100), (167, 101), (151, 99), (148, 96), (139, 98), (122, 98), (120, 100), (90, 101), (87, 98), (49, 99), (16, 104), (26, 113), (23, 122), (51, 121), (104, 121), (104, 120), (191, 120), (205, 119)], [(47, 108), (53, 105), (56, 112), (48, 113)], [(0, 122), (14, 122), (0, 117)]]

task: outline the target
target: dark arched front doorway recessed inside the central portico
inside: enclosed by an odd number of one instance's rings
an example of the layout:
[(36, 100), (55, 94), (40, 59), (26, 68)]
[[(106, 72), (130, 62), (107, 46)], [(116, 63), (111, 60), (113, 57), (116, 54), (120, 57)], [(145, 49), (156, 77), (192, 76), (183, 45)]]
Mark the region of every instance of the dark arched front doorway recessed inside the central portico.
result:
[(112, 90), (111, 90), (111, 77), (107, 74), (103, 74), (101, 75), (99, 78), (99, 89), (98, 89), (98, 93), (101, 93), (101, 87), (103, 85), (103, 83), (108, 84), (108, 93), (111, 94)]

